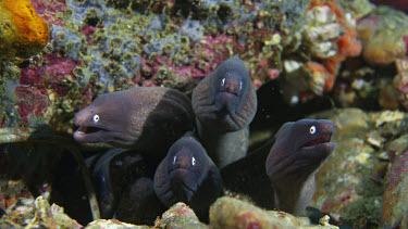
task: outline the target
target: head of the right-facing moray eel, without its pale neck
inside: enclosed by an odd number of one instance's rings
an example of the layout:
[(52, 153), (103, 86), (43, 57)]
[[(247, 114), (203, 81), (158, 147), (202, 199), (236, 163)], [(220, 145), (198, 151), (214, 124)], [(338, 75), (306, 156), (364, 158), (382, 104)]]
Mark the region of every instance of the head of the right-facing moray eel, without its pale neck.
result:
[(271, 180), (306, 180), (332, 154), (335, 125), (325, 119), (286, 123), (275, 135), (276, 142), (267, 160)]

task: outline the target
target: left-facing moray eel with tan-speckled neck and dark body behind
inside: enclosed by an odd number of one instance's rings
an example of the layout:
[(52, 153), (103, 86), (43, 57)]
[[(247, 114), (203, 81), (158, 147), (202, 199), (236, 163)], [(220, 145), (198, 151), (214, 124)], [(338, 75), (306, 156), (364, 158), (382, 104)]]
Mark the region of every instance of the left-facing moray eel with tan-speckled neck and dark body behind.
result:
[(75, 115), (81, 143), (107, 142), (165, 156), (170, 145), (194, 128), (190, 100), (177, 90), (133, 88), (106, 93)]

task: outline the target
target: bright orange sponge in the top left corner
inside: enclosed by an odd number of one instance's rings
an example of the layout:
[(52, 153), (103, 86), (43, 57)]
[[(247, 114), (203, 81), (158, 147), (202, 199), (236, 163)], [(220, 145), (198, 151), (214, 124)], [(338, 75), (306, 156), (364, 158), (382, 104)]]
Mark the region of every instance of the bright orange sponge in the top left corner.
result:
[(48, 24), (29, 0), (0, 0), (0, 59), (28, 58), (48, 42)]

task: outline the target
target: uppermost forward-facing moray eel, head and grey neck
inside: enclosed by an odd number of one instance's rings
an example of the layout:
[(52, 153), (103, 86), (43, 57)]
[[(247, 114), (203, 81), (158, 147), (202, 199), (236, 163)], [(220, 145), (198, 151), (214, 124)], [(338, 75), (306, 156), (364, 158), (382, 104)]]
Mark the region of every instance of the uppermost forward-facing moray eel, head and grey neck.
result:
[(257, 94), (238, 56), (224, 61), (193, 90), (198, 136), (221, 168), (246, 155)]

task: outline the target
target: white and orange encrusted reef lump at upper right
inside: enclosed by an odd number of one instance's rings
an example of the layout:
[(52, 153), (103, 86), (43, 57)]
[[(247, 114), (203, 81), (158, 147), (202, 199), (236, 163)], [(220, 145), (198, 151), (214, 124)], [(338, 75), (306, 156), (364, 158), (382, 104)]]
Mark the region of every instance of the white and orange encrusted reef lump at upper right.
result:
[[(311, 1), (301, 29), (302, 59), (284, 60), (284, 97), (290, 104), (322, 96), (333, 88), (342, 62), (357, 56), (361, 43), (357, 39), (356, 21), (335, 0)], [(299, 84), (300, 82), (300, 84)]]

